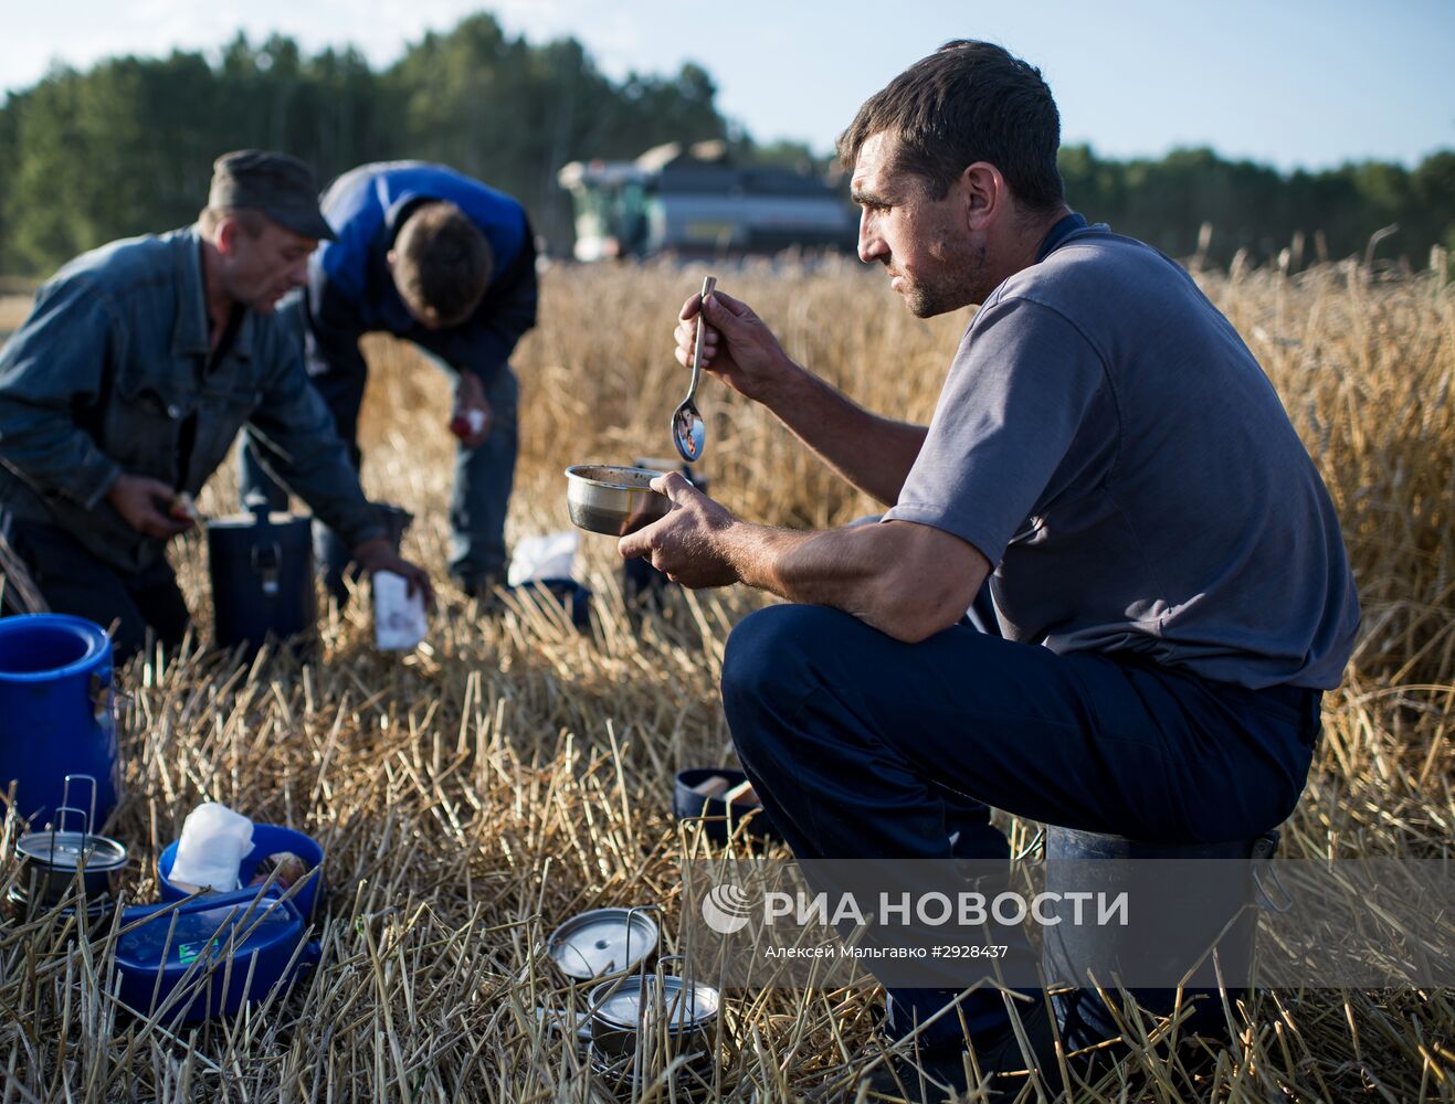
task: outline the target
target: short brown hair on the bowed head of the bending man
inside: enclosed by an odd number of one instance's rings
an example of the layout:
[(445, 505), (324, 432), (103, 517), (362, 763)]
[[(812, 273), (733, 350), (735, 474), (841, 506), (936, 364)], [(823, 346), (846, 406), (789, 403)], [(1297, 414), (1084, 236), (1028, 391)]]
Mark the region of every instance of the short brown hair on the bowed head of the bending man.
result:
[(394, 285), (415, 317), (458, 326), (485, 298), (495, 257), (480, 227), (454, 204), (416, 208), (394, 239)]

